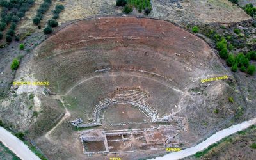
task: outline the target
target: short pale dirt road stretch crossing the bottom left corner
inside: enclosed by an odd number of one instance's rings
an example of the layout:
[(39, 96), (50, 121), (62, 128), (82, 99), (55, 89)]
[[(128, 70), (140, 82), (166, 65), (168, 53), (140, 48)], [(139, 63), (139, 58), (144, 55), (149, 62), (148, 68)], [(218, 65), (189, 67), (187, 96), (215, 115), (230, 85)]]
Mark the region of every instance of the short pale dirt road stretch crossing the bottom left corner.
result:
[(19, 138), (13, 136), (12, 133), (0, 127), (0, 141), (12, 150), (20, 159), (24, 160), (40, 160), (31, 150), (29, 150), (28, 146), (23, 143), (23, 141), (19, 140)]

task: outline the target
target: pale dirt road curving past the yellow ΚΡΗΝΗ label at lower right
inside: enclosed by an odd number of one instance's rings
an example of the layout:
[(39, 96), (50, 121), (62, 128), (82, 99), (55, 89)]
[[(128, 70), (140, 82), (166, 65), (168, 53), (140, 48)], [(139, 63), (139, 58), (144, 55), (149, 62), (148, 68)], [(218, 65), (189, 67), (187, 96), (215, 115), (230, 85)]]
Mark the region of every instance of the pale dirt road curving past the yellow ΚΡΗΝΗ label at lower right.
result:
[(234, 134), (235, 132), (246, 129), (253, 124), (256, 124), (256, 118), (242, 122), (241, 124), (233, 125), (231, 127), (228, 127), (227, 129), (218, 131), (215, 134), (213, 134), (211, 137), (207, 138), (207, 140), (203, 141), (202, 143), (199, 143), (195, 147), (187, 148), (185, 150), (181, 150), (180, 152), (172, 152), (170, 154), (164, 155), (163, 157), (157, 157), (155, 159), (157, 159), (157, 160), (167, 160), (167, 159), (172, 160), (172, 159), (182, 159), (184, 157), (191, 156), (198, 151), (204, 150), (205, 148), (209, 147), (210, 145), (216, 143), (217, 141), (220, 141), (221, 139), (223, 139), (227, 136), (230, 136), (231, 134)]

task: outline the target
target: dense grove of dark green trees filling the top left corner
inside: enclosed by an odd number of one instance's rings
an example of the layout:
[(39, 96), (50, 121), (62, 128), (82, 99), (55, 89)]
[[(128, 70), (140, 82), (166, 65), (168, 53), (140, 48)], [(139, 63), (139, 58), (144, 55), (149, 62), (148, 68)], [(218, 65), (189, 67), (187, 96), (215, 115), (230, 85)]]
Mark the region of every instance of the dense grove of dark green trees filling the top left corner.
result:
[(12, 37), (10, 36), (15, 35), (14, 29), (16, 24), (20, 22), (20, 19), (24, 17), (25, 13), (34, 3), (35, 0), (0, 0), (2, 8), (0, 12), (0, 31), (6, 29), (6, 26), (11, 23), (10, 29), (6, 33), (6, 42), (12, 42)]

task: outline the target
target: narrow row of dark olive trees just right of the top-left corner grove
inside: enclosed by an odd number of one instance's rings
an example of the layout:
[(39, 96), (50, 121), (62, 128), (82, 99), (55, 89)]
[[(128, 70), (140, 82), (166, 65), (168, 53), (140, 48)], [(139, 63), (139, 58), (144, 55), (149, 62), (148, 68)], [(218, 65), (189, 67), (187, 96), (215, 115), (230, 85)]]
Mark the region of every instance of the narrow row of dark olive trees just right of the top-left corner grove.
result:
[(36, 17), (33, 18), (33, 24), (35, 25), (40, 24), (40, 21), (42, 20), (44, 13), (47, 12), (47, 10), (49, 10), (51, 4), (52, 4), (51, 0), (44, 0), (44, 2), (40, 4), (36, 12)]

